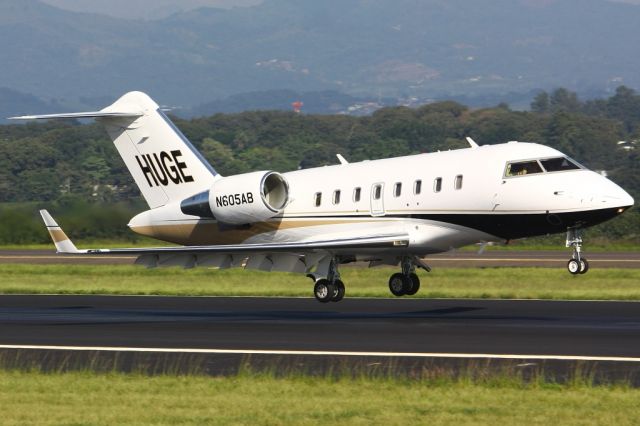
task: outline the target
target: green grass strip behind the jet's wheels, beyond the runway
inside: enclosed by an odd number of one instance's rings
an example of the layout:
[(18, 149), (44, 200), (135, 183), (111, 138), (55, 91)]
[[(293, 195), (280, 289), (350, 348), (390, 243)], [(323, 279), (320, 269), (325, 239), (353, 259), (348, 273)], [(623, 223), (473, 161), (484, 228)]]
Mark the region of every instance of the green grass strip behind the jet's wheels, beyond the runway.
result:
[[(347, 296), (390, 297), (394, 268), (343, 267)], [(421, 271), (413, 297), (640, 300), (640, 269), (592, 269), (572, 276), (564, 268), (439, 268)], [(4, 294), (157, 294), (311, 297), (300, 274), (251, 270), (137, 266), (0, 265)]]

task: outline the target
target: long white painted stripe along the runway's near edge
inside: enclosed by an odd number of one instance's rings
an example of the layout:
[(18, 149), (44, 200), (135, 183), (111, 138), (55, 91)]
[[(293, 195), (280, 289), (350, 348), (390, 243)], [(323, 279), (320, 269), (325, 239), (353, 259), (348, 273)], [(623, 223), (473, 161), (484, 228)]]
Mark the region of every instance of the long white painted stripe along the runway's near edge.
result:
[(47, 345), (0, 345), (0, 349), (29, 349), (54, 351), (104, 351), (104, 352), (157, 352), (221, 355), (298, 355), (298, 356), (348, 356), (382, 358), (459, 358), (459, 359), (525, 359), (557, 361), (609, 361), (640, 362), (640, 358), (616, 356), (578, 355), (522, 355), (522, 354), (462, 354), (437, 352), (347, 352), (347, 351), (287, 351), (266, 349), (197, 349), (197, 348), (135, 348), (119, 346), (47, 346)]

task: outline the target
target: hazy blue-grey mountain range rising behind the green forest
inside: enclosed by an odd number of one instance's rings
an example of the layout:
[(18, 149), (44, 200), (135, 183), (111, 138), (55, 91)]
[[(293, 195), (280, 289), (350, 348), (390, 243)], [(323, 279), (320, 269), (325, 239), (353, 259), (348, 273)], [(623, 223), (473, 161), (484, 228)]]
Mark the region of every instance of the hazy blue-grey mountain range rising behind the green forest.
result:
[(81, 104), (144, 90), (483, 97), (640, 87), (640, 7), (605, 0), (265, 0), (162, 20), (0, 2), (0, 86)]

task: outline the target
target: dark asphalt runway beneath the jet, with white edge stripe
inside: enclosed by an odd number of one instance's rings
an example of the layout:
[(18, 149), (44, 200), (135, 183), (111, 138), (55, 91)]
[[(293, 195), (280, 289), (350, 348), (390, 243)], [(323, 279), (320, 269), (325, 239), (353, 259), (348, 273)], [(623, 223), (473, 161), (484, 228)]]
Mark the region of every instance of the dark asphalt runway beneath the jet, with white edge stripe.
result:
[(119, 356), (124, 369), (153, 359), (183, 369), (194, 362), (185, 357), (198, 357), (212, 374), (237, 371), (247, 357), (324, 371), (509, 362), (565, 375), (583, 362), (604, 379), (636, 383), (640, 303), (0, 296), (0, 351), (49, 363)]

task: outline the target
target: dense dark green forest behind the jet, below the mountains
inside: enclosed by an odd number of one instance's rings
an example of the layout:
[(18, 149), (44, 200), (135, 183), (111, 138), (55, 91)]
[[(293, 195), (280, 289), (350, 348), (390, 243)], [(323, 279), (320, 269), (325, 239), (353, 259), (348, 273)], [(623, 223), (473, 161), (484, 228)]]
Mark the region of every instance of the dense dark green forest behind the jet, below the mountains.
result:
[[(640, 95), (624, 86), (589, 101), (566, 89), (541, 92), (526, 112), (438, 102), (366, 117), (249, 111), (174, 121), (223, 175), (333, 164), (336, 153), (359, 161), (456, 149), (471, 136), (480, 144), (555, 147), (640, 199)], [(0, 152), (0, 244), (46, 242), (41, 206), (78, 238), (135, 238), (125, 225), (144, 204), (99, 125), (0, 126)], [(637, 242), (640, 214), (634, 209), (591, 235)]]

